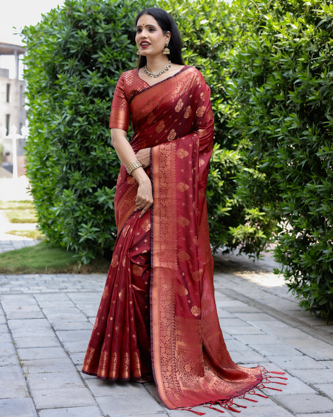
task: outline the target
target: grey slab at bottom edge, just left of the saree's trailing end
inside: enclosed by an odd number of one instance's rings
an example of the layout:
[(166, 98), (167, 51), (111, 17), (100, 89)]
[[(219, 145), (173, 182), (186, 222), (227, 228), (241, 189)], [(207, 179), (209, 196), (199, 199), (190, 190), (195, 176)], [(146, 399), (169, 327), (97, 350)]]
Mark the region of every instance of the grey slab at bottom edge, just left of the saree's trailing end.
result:
[(147, 394), (127, 394), (117, 397), (96, 397), (96, 402), (103, 414), (120, 416), (126, 414), (154, 414), (163, 412), (163, 408), (157, 401)]

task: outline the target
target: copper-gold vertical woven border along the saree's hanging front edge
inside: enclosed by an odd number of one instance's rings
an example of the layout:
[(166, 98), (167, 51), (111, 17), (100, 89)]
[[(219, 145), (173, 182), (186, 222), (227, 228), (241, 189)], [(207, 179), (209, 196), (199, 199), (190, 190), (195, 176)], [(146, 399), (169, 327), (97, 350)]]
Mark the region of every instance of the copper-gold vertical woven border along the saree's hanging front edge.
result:
[[(158, 149), (159, 148), (159, 149)], [(164, 149), (163, 149), (164, 148)], [(172, 280), (172, 276), (166, 277), (163, 274), (165, 269), (175, 271), (176, 269), (176, 233), (172, 229), (174, 222), (172, 221), (176, 216), (176, 196), (174, 194), (174, 187), (170, 187), (170, 183), (175, 183), (175, 173), (172, 170), (173, 161), (176, 156), (174, 153), (174, 146), (165, 144), (164, 146), (151, 148), (151, 177), (154, 178), (154, 210), (152, 211), (152, 269), (150, 281), (150, 305), (151, 305), (151, 344), (152, 344), (152, 367), (154, 379), (157, 384), (157, 392), (162, 402), (169, 408), (173, 409), (174, 405), (169, 401), (164, 390), (164, 379), (161, 369), (161, 333), (164, 337), (167, 336), (167, 328), (171, 327), (171, 323), (163, 322), (160, 317), (161, 301), (163, 304), (170, 304), (172, 308), (172, 300), (167, 300), (161, 291), (163, 281)], [(153, 163), (154, 162), (154, 163)], [(171, 178), (165, 181), (165, 178)], [(164, 195), (163, 198), (160, 198)], [(167, 196), (167, 198), (165, 198)], [(169, 232), (167, 229), (169, 228)], [(167, 234), (167, 236), (166, 236)], [(169, 239), (168, 239), (169, 238)], [(165, 250), (165, 242), (168, 242), (168, 247), (171, 251)], [(173, 249), (173, 250), (172, 250)], [(162, 294), (163, 293), (163, 294)], [(164, 327), (161, 329), (161, 327)], [(168, 337), (167, 337), (168, 338)]]

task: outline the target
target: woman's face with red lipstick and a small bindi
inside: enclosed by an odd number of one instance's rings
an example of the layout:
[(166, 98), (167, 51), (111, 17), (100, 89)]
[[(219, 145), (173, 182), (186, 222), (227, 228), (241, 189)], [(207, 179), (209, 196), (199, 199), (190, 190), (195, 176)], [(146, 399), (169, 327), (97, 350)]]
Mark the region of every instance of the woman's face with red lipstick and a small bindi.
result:
[(137, 23), (135, 42), (140, 54), (144, 56), (161, 55), (166, 42), (170, 40), (170, 32), (165, 35), (157, 21), (151, 15), (142, 15)]

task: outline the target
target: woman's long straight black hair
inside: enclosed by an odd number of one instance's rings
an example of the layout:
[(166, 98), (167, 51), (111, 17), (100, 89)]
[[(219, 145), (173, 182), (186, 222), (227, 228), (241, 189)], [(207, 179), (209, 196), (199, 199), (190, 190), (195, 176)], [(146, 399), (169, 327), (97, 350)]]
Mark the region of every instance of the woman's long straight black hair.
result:
[[(162, 29), (164, 35), (169, 31), (171, 33), (170, 42), (168, 48), (170, 50), (170, 55), (167, 55), (169, 60), (175, 64), (185, 65), (183, 58), (181, 57), (181, 38), (180, 33), (177, 28), (176, 23), (173, 18), (165, 10), (151, 7), (149, 9), (144, 9), (137, 15), (135, 19), (135, 26), (137, 26), (139, 18), (143, 15), (152, 16), (159, 26)], [(138, 68), (143, 67), (147, 63), (147, 57), (140, 55), (138, 59)]]

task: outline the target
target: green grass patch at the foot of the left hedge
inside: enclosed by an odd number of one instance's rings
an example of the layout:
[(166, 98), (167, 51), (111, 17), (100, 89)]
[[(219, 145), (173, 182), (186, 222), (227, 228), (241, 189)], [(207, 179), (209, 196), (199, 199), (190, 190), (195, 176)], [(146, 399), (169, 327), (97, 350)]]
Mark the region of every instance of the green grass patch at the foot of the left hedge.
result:
[(104, 258), (92, 259), (79, 269), (73, 255), (75, 251), (66, 251), (42, 242), (0, 254), (0, 274), (90, 274), (109, 270), (110, 261)]

